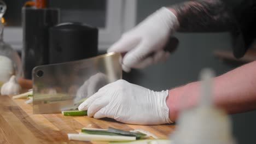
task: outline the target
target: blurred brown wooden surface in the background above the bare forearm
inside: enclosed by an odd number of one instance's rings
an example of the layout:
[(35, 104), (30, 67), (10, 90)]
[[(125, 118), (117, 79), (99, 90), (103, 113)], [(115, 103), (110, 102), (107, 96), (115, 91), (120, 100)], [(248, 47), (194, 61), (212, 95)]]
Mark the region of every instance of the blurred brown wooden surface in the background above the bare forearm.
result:
[(245, 56), (243, 56), (240, 59), (235, 58), (232, 51), (225, 51), (225, 50), (214, 51), (214, 56), (223, 60), (249, 63), (256, 60), (256, 50), (253, 50), (253, 49), (248, 50)]

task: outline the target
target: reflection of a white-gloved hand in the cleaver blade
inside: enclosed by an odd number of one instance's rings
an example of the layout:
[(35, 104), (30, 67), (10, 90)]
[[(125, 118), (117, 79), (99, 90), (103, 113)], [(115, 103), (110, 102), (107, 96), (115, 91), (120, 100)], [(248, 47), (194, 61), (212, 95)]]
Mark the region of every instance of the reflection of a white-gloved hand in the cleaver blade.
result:
[(108, 84), (108, 78), (103, 73), (97, 73), (92, 75), (84, 84), (78, 89), (75, 100), (79, 101), (84, 98), (89, 98), (91, 95), (95, 94), (98, 89)]

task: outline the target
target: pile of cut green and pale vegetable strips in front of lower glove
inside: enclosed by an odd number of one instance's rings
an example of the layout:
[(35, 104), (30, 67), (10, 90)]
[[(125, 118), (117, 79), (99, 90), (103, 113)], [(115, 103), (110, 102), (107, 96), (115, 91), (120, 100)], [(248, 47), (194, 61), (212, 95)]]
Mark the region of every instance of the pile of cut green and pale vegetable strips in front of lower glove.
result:
[[(78, 141), (108, 141), (110, 143), (170, 143), (170, 140), (148, 139), (155, 138), (148, 131), (125, 131), (109, 127), (108, 129), (83, 128), (79, 134), (68, 134), (69, 140)], [(156, 137), (157, 138), (157, 137)], [(147, 139), (147, 140), (146, 140)]]

